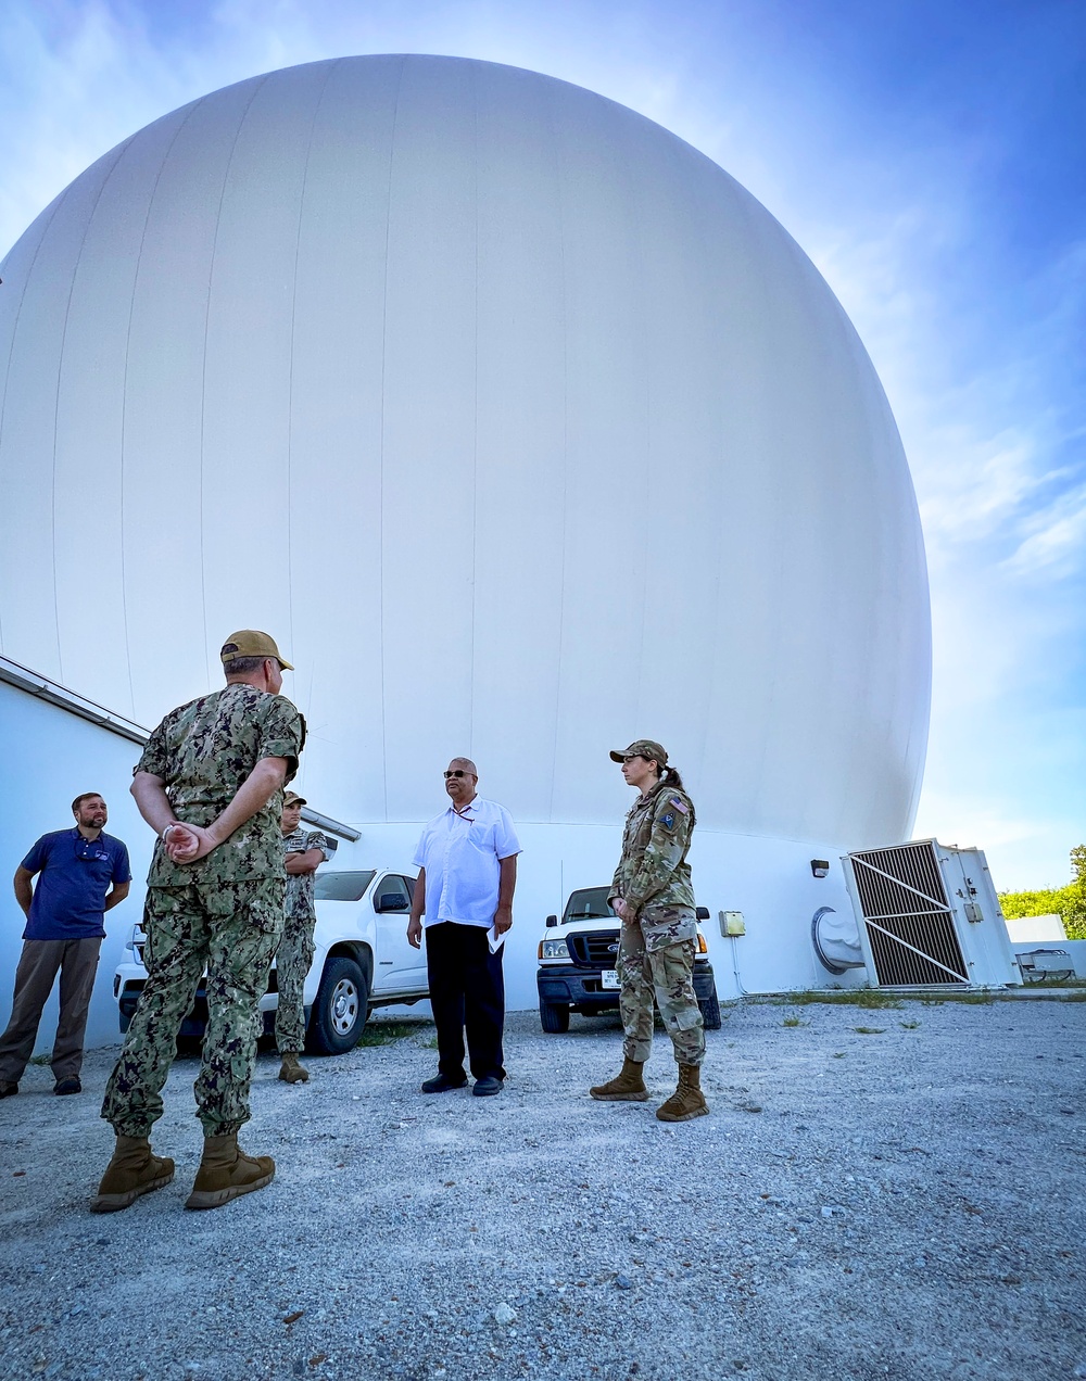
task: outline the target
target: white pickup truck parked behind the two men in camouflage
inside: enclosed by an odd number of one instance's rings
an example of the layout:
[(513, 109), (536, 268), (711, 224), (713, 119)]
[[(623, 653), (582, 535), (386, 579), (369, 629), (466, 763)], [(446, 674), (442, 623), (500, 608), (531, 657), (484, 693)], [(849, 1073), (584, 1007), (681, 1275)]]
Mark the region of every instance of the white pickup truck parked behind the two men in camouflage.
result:
[[(354, 1050), (374, 1007), (417, 1003), (428, 997), (426, 952), (408, 945), (408, 917), (415, 891), (415, 869), (322, 867), (316, 874), (316, 952), (305, 979), (305, 1048), (321, 1055)], [(124, 949), (113, 976), (113, 997), (126, 1032), (146, 982), (141, 925)], [(278, 1005), (275, 965), (268, 992), (260, 1000), (264, 1029), (271, 1030)], [(184, 1037), (203, 1036), (207, 1003), (203, 983), (181, 1023)]]

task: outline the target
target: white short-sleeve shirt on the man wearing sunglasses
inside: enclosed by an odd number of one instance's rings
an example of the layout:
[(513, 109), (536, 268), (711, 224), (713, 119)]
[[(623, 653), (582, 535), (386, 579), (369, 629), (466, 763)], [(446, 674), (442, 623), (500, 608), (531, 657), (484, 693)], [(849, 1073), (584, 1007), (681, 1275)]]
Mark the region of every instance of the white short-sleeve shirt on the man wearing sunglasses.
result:
[(426, 924), (493, 924), (499, 863), (521, 852), (513, 816), (496, 801), (477, 795), (457, 812), (452, 805), (423, 830), (415, 851), (426, 869)]

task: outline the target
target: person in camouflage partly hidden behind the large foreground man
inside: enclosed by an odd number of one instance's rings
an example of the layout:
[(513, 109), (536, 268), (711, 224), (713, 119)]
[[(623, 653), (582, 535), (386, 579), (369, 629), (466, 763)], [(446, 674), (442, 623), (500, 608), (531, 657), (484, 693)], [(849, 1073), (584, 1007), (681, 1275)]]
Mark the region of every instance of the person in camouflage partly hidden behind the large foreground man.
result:
[(303, 989), (314, 961), (315, 876), (329, 856), (327, 840), (319, 830), (301, 829), (303, 797), (287, 791), (279, 827), (286, 858), (286, 920), (275, 952), (279, 1007), (275, 1012), (275, 1044), (283, 1058), (279, 1077), (285, 1084), (304, 1084), (309, 1072), (298, 1063), (305, 1045)]

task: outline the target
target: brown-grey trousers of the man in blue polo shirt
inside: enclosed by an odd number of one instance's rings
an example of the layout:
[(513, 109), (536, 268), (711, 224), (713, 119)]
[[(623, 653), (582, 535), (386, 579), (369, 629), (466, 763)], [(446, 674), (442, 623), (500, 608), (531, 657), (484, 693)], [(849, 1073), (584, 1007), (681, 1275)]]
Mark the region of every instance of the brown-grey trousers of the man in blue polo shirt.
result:
[(15, 969), (11, 1021), (0, 1036), (0, 1079), (18, 1084), (33, 1054), (41, 1008), (61, 971), (61, 1019), (53, 1041), (53, 1077), (75, 1079), (83, 1068), (83, 1036), (98, 971), (102, 936), (79, 940), (23, 940)]

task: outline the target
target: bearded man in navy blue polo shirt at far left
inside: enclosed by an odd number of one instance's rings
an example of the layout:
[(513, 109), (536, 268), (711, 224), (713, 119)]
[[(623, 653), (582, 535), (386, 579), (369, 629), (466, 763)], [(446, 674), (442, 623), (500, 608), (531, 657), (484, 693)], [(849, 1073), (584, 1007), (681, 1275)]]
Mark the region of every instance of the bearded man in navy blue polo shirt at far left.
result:
[(109, 816), (101, 795), (77, 795), (72, 815), (75, 829), (43, 834), (15, 870), (15, 900), (26, 916), (26, 929), (11, 1021), (0, 1036), (0, 1098), (19, 1091), (57, 969), (61, 1019), (53, 1043), (53, 1091), (83, 1092), (83, 1034), (105, 939), (104, 916), (128, 895), (133, 876), (128, 851), (104, 833)]

